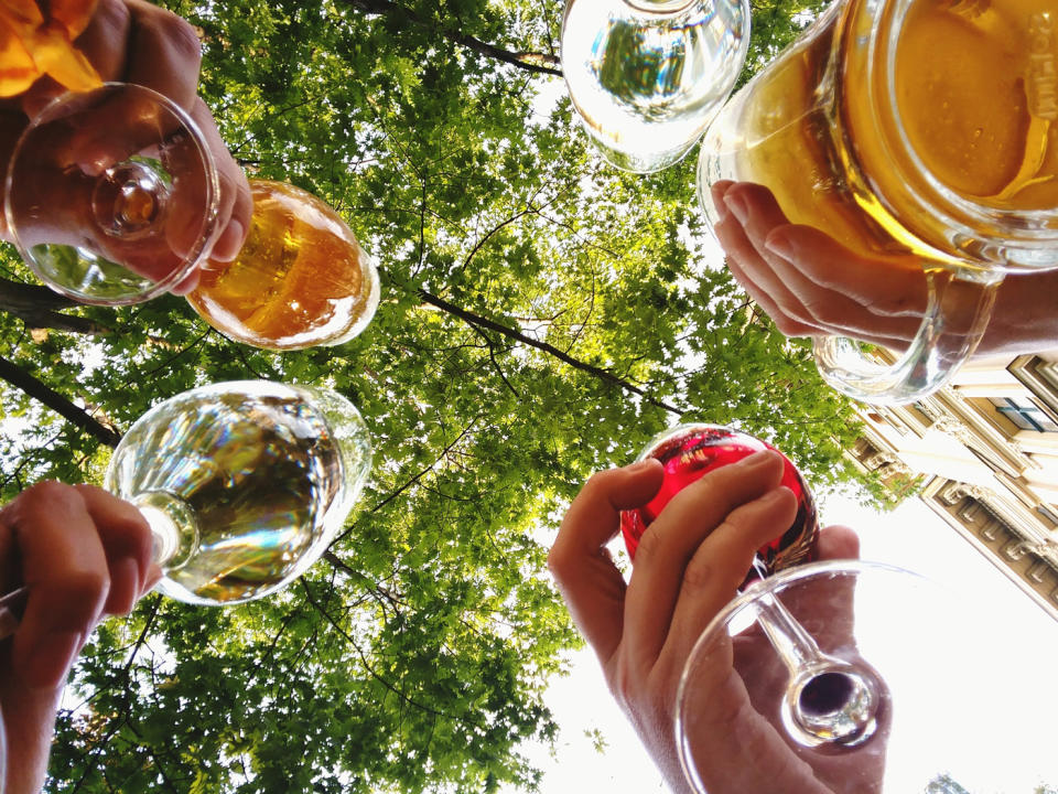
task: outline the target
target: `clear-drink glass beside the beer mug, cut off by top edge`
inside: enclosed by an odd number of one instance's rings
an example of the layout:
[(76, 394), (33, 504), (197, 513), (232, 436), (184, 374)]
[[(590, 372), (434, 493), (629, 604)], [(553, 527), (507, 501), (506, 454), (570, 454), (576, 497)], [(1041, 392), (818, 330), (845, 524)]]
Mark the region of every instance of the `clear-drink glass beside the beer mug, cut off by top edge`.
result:
[(649, 173), (698, 142), (748, 45), (747, 0), (568, 0), (562, 74), (603, 157)]

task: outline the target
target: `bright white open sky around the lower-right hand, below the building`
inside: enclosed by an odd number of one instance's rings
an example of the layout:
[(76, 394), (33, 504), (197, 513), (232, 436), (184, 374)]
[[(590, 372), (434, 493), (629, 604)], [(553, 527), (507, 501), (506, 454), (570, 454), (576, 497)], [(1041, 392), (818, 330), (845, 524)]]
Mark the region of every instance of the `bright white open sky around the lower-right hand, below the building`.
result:
[[(972, 727), (973, 733), (989, 748), (976, 759), (980, 764), (974, 766), (971, 759), (969, 765), (973, 769), (965, 764), (959, 768), (958, 779), (970, 782), (968, 787), (972, 794), (1032, 794), (1039, 783), (1058, 784), (1058, 752), (1052, 743), (1054, 715), (1058, 713), (1052, 662), (1058, 658), (1058, 624), (918, 500), (907, 502), (894, 513), (878, 515), (848, 498), (832, 496), (821, 504), (821, 513), (827, 524), (846, 524), (860, 532), (863, 559), (911, 568), (960, 591), (959, 603), (969, 604), (974, 597), (980, 597), (990, 604), (984, 611), (965, 610), (970, 633), (987, 641), (986, 647), (997, 654), (995, 661), (974, 654), (990, 678), (981, 682), (980, 669), (972, 668), (959, 654), (948, 659), (956, 690), (965, 693), (957, 704), (963, 716), (949, 719), (939, 716), (926, 740), (915, 738), (918, 744), (911, 757), (917, 753), (922, 760), (948, 758), (944, 737), (965, 742), (965, 737), (959, 736), (960, 730)], [(884, 615), (883, 620), (899, 621), (902, 613), (915, 609), (914, 603), (892, 607), (894, 613)], [(1006, 630), (1010, 635), (992, 640)], [(905, 635), (900, 640), (899, 653), (914, 658), (914, 639)], [(965, 677), (960, 679), (960, 675)], [(990, 699), (994, 702), (990, 704)], [(553, 682), (547, 701), (561, 726), (561, 733), (553, 758), (540, 748), (531, 752), (532, 761), (546, 773), (541, 786), (544, 794), (668, 791), (606, 691), (590, 651), (576, 655), (569, 677)], [(982, 713), (994, 708), (1013, 711), (1015, 716), (982, 718)], [(1024, 726), (1022, 734), (1016, 730), (1017, 725)], [(605, 737), (604, 753), (595, 750), (587, 736), (596, 729)], [(910, 739), (909, 734), (905, 736)], [(1004, 737), (1006, 745), (1002, 743)], [(898, 730), (894, 728), (890, 755), (897, 752), (897, 743)], [(951, 748), (949, 751), (953, 752)], [(887, 786), (886, 792), (890, 791), (918, 794), (906, 787)]]

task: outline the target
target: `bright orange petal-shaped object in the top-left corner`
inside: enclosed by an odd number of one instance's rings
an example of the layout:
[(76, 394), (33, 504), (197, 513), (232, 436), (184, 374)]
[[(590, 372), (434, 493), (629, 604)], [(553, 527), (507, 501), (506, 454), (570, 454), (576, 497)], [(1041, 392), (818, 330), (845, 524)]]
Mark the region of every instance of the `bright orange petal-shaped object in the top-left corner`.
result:
[(0, 97), (43, 75), (69, 90), (99, 86), (99, 74), (74, 49), (95, 10), (96, 0), (0, 0)]

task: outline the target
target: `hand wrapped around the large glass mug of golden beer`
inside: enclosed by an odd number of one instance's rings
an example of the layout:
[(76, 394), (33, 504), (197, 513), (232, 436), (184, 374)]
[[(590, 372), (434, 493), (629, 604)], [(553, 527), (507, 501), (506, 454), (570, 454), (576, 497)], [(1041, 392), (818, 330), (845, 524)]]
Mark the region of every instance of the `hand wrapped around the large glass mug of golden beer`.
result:
[[(863, 257), (820, 229), (791, 224), (764, 185), (721, 181), (711, 194), (727, 267), (779, 331), (907, 348), (927, 305), (920, 259)], [(1058, 271), (1007, 276), (976, 355), (1038, 352), (1058, 344), (1056, 293)], [(964, 301), (961, 321), (968, 326), (976, 302), (972, 296)], [(949, 324), (959, 322), (952, 312)]]

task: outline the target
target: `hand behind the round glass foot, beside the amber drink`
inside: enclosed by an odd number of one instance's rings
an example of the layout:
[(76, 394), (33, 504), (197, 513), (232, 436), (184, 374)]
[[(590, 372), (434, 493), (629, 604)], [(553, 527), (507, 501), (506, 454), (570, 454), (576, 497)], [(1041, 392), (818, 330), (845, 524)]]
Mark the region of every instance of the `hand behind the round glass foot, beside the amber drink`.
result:
[[(224, 261), (235, 258), (249, 228), (252, 201), (246, 176), (222, 141), (205, 103), (196, 96), (201, 53), (194, 29), (176, 14), (140, 0), (100, 0), (73, 45), (71, 57), (84, 56), (87, 67), (96, 72), (96, 85), (120, 81), (144, 86), (170, 99), (193, 119), (218, 174), (213, 257)], [(86, 86), (78, 83), (76, 87)], [(0, 162), (11, 160), (19, 137), (64, 92), (63, 85), (42, 77), (21, 93), (0, 100)], [(143, 109), (142, 100), (111, 99), (94, 111), (94, 116), (86, 117), (79, 130), (80, 139), (62, 146), (80, 150), (82, 159), (107, 162), (120, 157), (126, 150), (131, 151), (130, 147), (134, 148), (137, 133), (143, 132)], [(50, 142), (44, 141), (45, 148)], [(50, 159), (62, 159), (62, 155), (63, 151), (55, 151)], [(48, 210), (47, 226), (68, 228), (71, 218), (64, 214), (73, 211), (71, 190), (75, 183), (60, 179), (40, 182), (32, 185), (33, 195)], [(7, 190), (6, 183), (0, 185), (0, 198)], [(3, 227), (0, 221), (0, 228)], [(184, 292), (195, 282), (195, 275), (191, 273), (173, 289)]]

